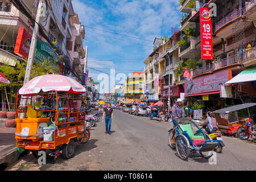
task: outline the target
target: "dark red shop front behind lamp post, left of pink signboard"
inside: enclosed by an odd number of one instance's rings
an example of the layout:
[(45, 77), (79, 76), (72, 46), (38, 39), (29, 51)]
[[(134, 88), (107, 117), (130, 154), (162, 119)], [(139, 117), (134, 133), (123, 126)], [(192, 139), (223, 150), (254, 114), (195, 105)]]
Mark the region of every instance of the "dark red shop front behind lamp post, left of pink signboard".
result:
[[(167, 86), (163, 86), (161, 90), (161, 97), (160, 100), (165, 104), (165, 106), (168, 106), (168, 97), (169, 97), (169, 88)], [(184, 88), (182, 85), (175, 85), (170, 86), (170, 103), (171, 106), (174, 105), (175, 100), (177, 98), (180, 98), (180, 93), (184, 93)]]

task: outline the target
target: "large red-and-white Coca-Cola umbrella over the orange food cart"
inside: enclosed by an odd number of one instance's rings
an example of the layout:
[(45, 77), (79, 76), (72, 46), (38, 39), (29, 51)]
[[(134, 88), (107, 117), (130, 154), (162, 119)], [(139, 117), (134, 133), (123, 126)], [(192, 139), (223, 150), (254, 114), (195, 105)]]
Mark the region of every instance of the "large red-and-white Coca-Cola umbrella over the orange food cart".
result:
[(40, 91), (58, 91), (69, 93), (85, 93), (86, 90), (79, 82), (73, 78), (63, 75), (42, 75), (28, 81), (19, 89), (20, 95), (36, 94)]

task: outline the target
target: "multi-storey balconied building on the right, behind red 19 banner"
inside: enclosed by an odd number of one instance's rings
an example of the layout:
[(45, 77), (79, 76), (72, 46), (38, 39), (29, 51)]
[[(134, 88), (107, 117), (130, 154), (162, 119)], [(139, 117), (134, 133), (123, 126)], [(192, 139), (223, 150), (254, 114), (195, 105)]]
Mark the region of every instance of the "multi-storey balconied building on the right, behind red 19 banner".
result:
[[(184, 0), (180, 5), (181, 13), (187, 17), (181, 22), (181, 39), (185, 44), (179, 48), (179, 57), (185, 63), (188, 60), (199, 60), (197, 68), (191, 69), (193, 81), (185, 84), (185, 96), (190, 101), (201, 101), (206, 109), (218, 109), (225, 104), (240, 102), (229, 98), (220, 98), (220, 86), (230, 78), (238, 75), (246, 67), (255, 65), (255, 1), (245, 0), (207, 0), (194, 1), (195, 4), (187, 9), (186, 5), (192, 0)], [(213, 56), (214, 60), (201, 60), (201, 36), (200, 36), (200, 7), (208, 7), (209, 3), (217, 5), (217, 16), (212, 16)], [(185, 36), (188, 28), (194, 30), (193, 35)], [(225, 77), (226, 79), (221, 79)], [(217, 78), (217, 79), (216, 79)], [(202, 80), (214, 80), (215, 89), (207, 89), (209, 81), (200, 84)], [(193, 85), (200, 85), (200, 92), (194, 92)], [(192, 89), (191, 89), (192, 88)], [(243, 85), (233, 85), (233, 98), (239, 98), (241, 93), (247, 96), (255, 96), (255, 88), (252, 82)], [(203, 101), (202, 96), (208, 96), (209, 101)], [(192, 104), (192, 102), (190, 102)]]

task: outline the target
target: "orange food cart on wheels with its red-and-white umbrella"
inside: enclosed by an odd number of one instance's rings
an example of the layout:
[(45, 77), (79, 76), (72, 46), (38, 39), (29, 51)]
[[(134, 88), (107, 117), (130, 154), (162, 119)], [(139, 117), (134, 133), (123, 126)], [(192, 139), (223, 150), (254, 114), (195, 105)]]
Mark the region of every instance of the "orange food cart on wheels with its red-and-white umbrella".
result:
[[(43, 75), (25, 84), (16, 99), (16, 145), (31, 150), (63, 150), (65, 159), (75, 155), (75, 142), (86, 143), (85, 88), (72, 78)], [(27, 106), (24, 106), (27, 102)]]

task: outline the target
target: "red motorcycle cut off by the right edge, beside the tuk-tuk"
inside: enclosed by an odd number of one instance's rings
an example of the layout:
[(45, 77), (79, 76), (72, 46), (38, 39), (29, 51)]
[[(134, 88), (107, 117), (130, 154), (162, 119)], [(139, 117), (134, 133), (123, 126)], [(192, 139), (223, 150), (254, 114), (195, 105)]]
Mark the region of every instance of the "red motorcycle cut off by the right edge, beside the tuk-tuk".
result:
[(241, 126), (237, 130), (237, 135), (242, 140), (247, 140), (250, 137), (254, 140), (256, 139), (256, 134), (253, 133), (253, 122), (251, 121), (251, 119), (249, 119), (245, 126)]

